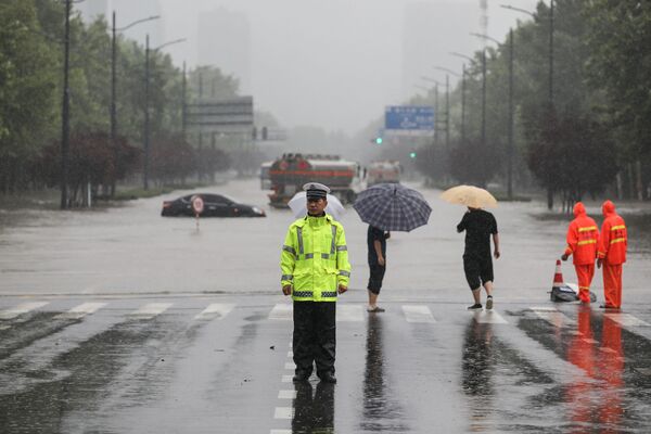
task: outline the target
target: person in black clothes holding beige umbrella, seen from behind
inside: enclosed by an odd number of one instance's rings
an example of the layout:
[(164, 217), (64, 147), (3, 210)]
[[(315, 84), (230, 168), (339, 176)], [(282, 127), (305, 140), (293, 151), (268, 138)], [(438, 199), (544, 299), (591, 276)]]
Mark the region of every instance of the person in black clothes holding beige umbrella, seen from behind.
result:
[(481, 290), (486, 291), (486, 309), (493, 309), (493, 258), (490, 255), (490, 235), (495, 250), (493, 257), (499, 258), (499, 235), (497, 220), (493, 214), (482, 209), (497, 206), (497, 200), (486, 190), (474, 186), (458, 186), (443, 192), (441, 197), (449, 203), (464, 205), (468, 210), (457, 232), (465, 231), (465, 250), (463, 251), (463, 271), (472, 291), (474, 304), (468, 309), (481, 309)]

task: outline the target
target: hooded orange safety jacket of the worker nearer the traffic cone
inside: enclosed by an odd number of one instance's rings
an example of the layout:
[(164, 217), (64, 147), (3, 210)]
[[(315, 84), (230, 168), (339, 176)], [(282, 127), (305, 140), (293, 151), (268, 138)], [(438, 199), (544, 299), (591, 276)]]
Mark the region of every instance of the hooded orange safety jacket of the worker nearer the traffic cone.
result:
[(565, 255), (573, 256), (574, 265), (595, 264), (599, 238), (597, 224), (591, 217), (588, 217), (586, 207), (580, 202), (574, 205), (574, 217), (567, 228)]

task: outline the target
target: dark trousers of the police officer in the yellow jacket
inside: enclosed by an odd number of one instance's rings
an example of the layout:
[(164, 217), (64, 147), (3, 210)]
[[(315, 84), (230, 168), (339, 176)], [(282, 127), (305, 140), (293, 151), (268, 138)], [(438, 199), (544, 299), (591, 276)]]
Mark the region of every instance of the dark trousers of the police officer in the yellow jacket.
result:
[(292, 349), (297, 374), (334, 374), (336, 347), (336, 303), (294, 302), (294, 339)]

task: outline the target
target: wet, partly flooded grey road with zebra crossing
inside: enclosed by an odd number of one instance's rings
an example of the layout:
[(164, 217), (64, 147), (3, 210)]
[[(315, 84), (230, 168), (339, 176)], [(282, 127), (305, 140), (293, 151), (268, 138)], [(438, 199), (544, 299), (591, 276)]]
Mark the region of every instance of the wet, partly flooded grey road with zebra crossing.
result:
[[(256, 187), (216, 190), (261, 205)], [(199, 231), (158, 217), (162, 199), (2, 212), (0, 432), (650, 432), (648, 241), (631, 242), (621, 314), (551, 304), (566, 221), (502, 204), (495, 311), (473, 314), (462, 209), (424, 193), (430, 225), (390, 240), (384, 314), (363, 310), (366, 226), (342, 219), (354, 268), (334, 386), (290, 381), (288, 212)]]

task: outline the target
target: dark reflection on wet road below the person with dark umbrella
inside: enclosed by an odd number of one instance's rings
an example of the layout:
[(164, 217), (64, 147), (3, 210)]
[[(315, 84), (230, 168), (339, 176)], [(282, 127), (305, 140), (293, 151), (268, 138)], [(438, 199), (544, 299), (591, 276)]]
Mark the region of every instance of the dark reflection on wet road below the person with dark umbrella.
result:
[(370, 315), (367, 322), (366, 367), (363, 374), (363, 421), (369, 432), (407, 432), (403, 409), (392, 399), (384, 369), (384, 330), (382, 315)]

